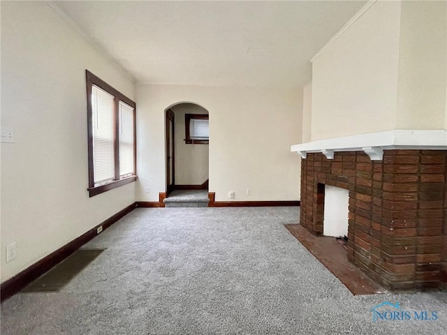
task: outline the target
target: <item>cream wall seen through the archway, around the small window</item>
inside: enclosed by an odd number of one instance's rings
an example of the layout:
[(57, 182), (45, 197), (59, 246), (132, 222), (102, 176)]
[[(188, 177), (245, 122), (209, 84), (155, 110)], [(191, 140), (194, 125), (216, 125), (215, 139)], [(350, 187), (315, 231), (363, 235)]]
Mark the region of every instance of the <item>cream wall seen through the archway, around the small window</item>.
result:
[(186, 144), (185, 114), (208, 114), (191, 103), (171, 107), (175, 114), (175, 184), (201, 185), (208, 179), (208, 144)]

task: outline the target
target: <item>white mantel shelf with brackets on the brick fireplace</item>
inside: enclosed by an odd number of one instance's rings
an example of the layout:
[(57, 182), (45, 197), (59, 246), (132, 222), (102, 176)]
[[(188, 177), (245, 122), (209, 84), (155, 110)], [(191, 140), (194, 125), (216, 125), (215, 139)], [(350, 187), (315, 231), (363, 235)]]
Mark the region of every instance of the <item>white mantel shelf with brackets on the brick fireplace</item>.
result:
[(365, 151), (372, 161), (381, 161), (383, 150), (389, 149), (447, 150), (447, 131), (381, 131), (291, 146), (291, 151), (298, 152), (302, 158), (312, 152), (321, 152), (326, 158), (333, 159), (337, 151)]

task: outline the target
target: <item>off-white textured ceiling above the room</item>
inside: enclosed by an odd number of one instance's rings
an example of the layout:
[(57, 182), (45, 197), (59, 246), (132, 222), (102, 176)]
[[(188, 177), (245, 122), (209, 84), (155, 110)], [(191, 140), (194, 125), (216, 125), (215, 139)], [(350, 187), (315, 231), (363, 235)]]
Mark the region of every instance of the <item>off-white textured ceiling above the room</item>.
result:
[(54, 1), (137, 82), (298, 88), (365, 1)]

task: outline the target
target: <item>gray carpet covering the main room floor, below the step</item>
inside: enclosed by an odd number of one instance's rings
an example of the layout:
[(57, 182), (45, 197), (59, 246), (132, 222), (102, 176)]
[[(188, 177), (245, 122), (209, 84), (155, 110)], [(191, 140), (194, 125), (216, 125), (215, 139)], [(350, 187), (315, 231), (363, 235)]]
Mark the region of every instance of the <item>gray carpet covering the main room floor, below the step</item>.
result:
[[(57, 293), (1, 306), (1, 334), (447, 334), (446, 292), (353, 296), (293, 237), (298, 207), (135, 209)], [(383, 301), (436, 321), (372, 323)]]

